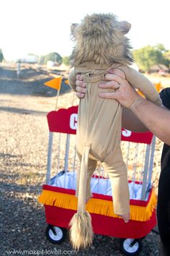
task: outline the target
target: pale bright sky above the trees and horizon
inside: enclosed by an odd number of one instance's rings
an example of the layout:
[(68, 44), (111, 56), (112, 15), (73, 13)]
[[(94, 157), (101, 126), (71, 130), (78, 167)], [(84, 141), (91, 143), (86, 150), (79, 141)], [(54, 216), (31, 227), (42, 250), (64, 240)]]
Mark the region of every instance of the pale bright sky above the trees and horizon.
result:
[(163, 43), (170, 50), (169, 0), (1, 0), (0, 48), (6, 60), (73, 49), (70, 25), (92, 13), (127, 20), (134, 49)]

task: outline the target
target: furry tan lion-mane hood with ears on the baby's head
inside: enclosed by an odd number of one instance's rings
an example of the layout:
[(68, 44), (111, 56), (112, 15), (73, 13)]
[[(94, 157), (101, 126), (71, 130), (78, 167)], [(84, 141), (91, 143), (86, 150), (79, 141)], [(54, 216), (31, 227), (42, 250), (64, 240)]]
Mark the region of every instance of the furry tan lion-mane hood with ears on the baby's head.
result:
[(71, 67), (94, 61), (97, 64), (133, 64), (129, 39), (130, 23), (118, 21), (114, 14), (86, 15), (80, 24), (71, 25), (75, 41), (70, 56)]

